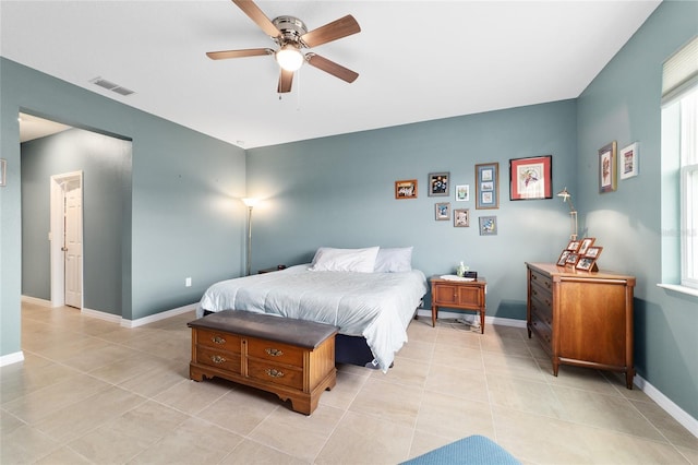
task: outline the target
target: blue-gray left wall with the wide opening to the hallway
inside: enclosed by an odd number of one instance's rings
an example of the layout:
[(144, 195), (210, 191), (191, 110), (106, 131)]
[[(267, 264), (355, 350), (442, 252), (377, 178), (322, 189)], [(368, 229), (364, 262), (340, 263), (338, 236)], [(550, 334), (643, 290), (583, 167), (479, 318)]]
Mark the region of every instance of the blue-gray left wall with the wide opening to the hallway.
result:
[[(243, 273), (242, 148), (0, 58), (0, 153), (8, 163), (0, 188), (0, 355), (21, 344), (20, 111), (132, 140), (131, 205), (123, 216), (130, 234), (121, 238), (130, 251), (121, 263), (124, 319), (196, 302), (212, 282)], [(106, 302), (95, 310), (113, 308)]]

